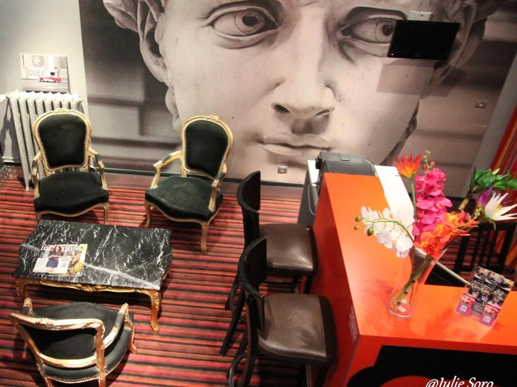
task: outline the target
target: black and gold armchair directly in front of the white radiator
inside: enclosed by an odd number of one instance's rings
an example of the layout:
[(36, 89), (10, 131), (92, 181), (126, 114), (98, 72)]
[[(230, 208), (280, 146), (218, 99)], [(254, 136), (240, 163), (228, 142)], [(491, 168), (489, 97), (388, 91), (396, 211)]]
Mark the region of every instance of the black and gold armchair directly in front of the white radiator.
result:
[[(36, 220), (48, 213), (72, 217), (103, 207), (104, 223), (108, 223), (104, 164), (90, 148), (92, 124), (88, 118), (77, 110), (52, 110), (38, 117), (33, 133), (39, 148), (32, 165)], [(99, 173), (90, 171), (90, 157), (95, 158)], [(41, 181), (39, 164), (45, 175)]]

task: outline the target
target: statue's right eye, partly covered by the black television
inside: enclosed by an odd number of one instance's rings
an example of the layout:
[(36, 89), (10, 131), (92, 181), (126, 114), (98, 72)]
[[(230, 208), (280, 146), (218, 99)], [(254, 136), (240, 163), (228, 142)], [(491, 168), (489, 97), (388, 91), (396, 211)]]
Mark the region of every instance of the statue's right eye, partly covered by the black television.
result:
[(367, 43), (389, 43), (397, 19), (375, 17), (360, 20), (340, 29), (343, 37)]

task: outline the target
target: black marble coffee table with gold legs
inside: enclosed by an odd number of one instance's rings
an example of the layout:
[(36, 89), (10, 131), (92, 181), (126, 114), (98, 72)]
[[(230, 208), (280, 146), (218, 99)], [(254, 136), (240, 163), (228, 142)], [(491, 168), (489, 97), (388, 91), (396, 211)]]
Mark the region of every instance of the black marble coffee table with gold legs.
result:
[[(41, 220), (20, 246), (20, 262), (13, 272), (18, 296), (27, 297), (27, 284), (71, 287), (84, 292), (143, 293), (151, 300), (150, 322), (159, 330), (160, 288), (169, 272), (171, 231), (117, 225)], [(87, 244), (80, 276), (33, 272), (41, 246)]]

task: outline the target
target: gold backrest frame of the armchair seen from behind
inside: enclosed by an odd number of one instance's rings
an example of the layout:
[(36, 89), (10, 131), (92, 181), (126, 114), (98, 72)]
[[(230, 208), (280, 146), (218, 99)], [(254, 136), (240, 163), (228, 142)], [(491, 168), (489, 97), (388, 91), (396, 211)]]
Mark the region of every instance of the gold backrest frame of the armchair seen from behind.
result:
[[(33, 353), (41, 358), (45, 363), (62, 368), (81, 368), (92, 364), (99, 364), (99, 359), (104, 359), (104, 343), (102, 337), (104, 335), (104, 324), (98, 318), (77, 318), (54, 320), (46, 317), (33, 317), (19, 313), (11, 313), (9, 315), (14, 326), (23, 336), (25, 342), (29, 345)], [(66, 331), (72, 329), (95, 329), (95, 354), (83, 359), (56, 359), (41, 353), (31, 336), (23, 326), (49, 330), (49, 331)]]

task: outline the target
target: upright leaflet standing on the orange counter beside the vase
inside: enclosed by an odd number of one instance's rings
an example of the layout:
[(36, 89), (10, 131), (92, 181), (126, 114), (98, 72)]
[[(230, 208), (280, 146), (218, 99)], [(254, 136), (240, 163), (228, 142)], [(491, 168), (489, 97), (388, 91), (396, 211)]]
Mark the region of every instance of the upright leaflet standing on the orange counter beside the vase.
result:
[(496, 272), (476, 267), (456, 311), (493, 327), (513, 284), (513, 281)]

